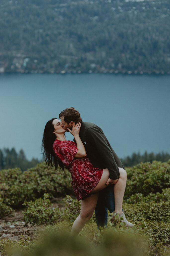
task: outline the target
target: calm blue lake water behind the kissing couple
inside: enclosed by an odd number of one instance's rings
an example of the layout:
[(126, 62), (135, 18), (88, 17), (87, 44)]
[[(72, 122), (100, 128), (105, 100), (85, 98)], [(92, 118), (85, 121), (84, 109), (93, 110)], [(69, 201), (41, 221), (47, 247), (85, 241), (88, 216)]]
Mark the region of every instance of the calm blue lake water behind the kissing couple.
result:
[(40, 159), (46, 122), (73, 106), (103, 129), (119, 157), (170, 153), (169, 96), (168, 75), (1, 74), (0, 148)]

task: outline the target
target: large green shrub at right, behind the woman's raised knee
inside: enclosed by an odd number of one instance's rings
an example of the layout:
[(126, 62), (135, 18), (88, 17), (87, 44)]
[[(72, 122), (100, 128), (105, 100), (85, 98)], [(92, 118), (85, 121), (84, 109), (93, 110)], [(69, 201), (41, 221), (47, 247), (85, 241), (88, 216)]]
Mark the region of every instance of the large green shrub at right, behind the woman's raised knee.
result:
[(163, 188), (170, 185), (170, 160), (167, 163), (153, 161), (140, 163), (132, 168), (126, 168), (127, 185), (124, 199), (131, 195), (142, 193), (162, 193)]

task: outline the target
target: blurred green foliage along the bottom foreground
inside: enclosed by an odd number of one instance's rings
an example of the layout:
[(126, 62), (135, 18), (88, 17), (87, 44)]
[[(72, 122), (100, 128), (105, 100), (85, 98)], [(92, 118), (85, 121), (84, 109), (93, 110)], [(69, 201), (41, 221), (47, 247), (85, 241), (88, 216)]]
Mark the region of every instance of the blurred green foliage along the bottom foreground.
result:
[[(142, 256), (147, 250), (146, 241), (140, 237), (140, 235), (130, 234), (127, 236), (127, 234), (111, 232), (110, 230), (102, 233), (102, 236), (100, 237), (101, 243), (98, 244), (98, 246), (95, 246), (95, 244), (90, 241), (90, 236), (88, 236), (87, 233), (84, 233), (79, 237), (70, 237), (68, 231), (56, 232), (57, 229), (58, 227), (56, 226), (53, 232), (41, 233), (40, 238), (33, 247), (34, 250), (21, 250), (21, 248), (23, 248), (23, 245), (21, 244), (20, 250), (14, 248), (8, 249), (8, 255), (28, 256), (31, 253), (32, 256)], [(100, 233), (100, 231), (96, 233), (93, 240), (98, 238), (97, 234)]]

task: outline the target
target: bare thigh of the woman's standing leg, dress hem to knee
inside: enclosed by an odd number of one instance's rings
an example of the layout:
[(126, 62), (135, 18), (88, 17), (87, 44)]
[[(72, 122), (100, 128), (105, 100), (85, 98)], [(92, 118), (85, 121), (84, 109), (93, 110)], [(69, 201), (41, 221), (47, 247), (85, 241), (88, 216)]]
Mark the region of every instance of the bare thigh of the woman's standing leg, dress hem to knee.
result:
[(80, 215), (83, 218), (91, 217), (95, 210), (99, 193), (95, 193), (89, 197), (86, 197), (81, 200), (81, 212)]

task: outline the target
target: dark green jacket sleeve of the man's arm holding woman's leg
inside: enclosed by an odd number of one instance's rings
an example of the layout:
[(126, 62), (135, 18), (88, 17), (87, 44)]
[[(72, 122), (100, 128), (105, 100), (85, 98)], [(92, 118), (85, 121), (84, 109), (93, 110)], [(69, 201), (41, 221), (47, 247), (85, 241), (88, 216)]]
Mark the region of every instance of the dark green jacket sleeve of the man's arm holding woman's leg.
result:
[(107, 144), (103, 131), (99, 127), (90, 127), (86, 131), (86, 141), (97, 151), (96, 153), (99, 155), (103, 166), (106, 166), (106, 168), (109, 169), (109, 178), (118, 179), (120, 175), (119, 168), (115, 162), (113, 153)]

